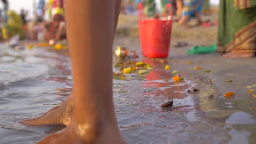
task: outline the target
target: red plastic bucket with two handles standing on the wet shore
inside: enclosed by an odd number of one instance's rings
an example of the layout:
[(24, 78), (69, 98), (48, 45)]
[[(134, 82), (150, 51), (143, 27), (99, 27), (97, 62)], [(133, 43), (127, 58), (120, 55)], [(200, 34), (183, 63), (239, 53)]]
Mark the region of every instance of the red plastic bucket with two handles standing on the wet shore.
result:
[(141, 3), (138, 5), (139, 37), (142, 53), (146, 57), (166, 58), (168, 56), (172, 31), (172, 20), (168, 20), (166, 16), (168, 8), (170, 9), (168, 16), (172, 16), (171, 4), (167, 4), (163, 15), (166, 20), (145, 19), (143, 5)]

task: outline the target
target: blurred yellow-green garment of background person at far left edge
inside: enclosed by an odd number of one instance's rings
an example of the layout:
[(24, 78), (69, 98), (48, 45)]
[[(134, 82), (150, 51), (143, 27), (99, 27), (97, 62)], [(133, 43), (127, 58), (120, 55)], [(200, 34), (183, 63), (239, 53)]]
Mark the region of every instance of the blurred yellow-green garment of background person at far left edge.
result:
[(20, 35), (20, 38), (23, 38), (24, 35), (21, 17), (11, 10), (7, 11), (7, 15), (8, 21), (2, 27), (3, 39), (8, 39), (14, 35)]

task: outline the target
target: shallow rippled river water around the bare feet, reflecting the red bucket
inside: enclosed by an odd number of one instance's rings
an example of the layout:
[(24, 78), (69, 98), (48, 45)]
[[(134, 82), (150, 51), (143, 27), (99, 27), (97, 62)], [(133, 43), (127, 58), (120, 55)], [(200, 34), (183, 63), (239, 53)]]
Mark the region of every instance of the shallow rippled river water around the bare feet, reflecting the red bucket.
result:
[[(256, 103), (225, 99), (218, 88), (184, 79), (175, 83), (161, 63), (148, 74), (114, 80), (115, 111), (127, 143), (256, 143)], [(42, 115), (68, 97), (69, 57), (60, 51), (15, 51), (0, 46), (0, 143), (34, 143), (63, 128), (28, 127), (22, 119)], [(188, 94), (188, 89), (200, 89)], [(214, 94), (212, 100), (208, 94)], [(174, 100), (173, 107), (161, 104)], [(255, 100), (255, 99), (254, 99)]]

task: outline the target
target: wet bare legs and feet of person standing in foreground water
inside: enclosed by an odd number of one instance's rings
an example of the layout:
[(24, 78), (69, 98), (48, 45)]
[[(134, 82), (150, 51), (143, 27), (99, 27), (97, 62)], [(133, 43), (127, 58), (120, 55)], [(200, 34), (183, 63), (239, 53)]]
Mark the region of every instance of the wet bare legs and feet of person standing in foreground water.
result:
[(66, 103), (21, 123), (67, 122), (65, 129), (39, 143), (123, 143), (112, 99), (112, 44), (120, 0), (65, 1), (65, 5), (75, 88)]

